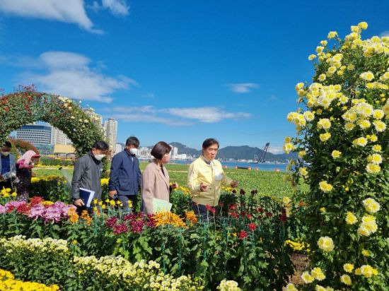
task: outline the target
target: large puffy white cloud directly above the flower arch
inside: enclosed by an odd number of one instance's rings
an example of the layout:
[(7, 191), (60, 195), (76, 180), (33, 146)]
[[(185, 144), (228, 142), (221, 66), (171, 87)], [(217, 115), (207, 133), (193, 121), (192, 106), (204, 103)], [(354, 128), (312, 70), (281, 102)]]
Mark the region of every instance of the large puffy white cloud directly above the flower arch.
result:
[(45, 52), (37, 62), (45, 73), (24, 73), (23, 83), (35, 83), (48, 93), (66, 97), (111, 102), (116, 90), (129, 89), (137, 82), (125, 76), (112, 78), (91, 67), (91, 60), (71, 52)]

